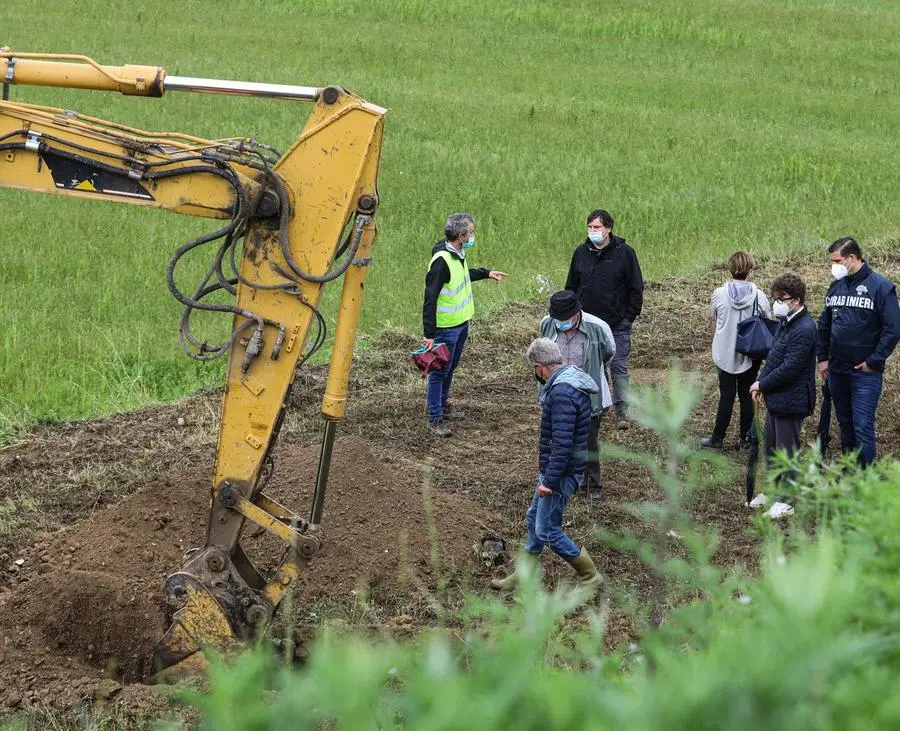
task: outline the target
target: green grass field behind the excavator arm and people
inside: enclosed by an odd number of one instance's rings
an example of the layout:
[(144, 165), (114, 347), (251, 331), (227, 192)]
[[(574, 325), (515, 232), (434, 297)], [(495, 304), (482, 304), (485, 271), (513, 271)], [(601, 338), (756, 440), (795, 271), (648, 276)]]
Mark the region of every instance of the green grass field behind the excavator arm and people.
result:
[[(561, 284), (596, 206), (648, 278), (738, 247), (898, 233), (889, 0), (23, 0), (0, 10), (0, 27), (14, 50), (338, 83), (390, 108), (368, 332), (418, 332), (428, 252), (456, 210), (478, 219), (475, 263), (510, 273), (477, 285), (482, 315), (535, 296), (538, 275)], [(309, 111), (27, 87), (12, 98), (280, 148)], [(0, 191), (0, 211), (0, 432), (219, 382), (221, 367), (179, 350), (163, 276), (208, 221), (16, 191)]]

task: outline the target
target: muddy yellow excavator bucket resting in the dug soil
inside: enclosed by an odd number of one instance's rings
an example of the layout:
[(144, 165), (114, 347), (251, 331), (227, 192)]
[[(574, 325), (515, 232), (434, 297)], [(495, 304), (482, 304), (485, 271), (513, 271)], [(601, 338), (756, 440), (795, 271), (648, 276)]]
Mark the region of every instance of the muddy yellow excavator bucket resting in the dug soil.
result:
[(177, 680), (206, 669), (206, 653), (225, 654), (240, 645), (222, 604), (190, 574), (174, 574), (167, 592), (183, 601), (153, 652), (155, 680)]

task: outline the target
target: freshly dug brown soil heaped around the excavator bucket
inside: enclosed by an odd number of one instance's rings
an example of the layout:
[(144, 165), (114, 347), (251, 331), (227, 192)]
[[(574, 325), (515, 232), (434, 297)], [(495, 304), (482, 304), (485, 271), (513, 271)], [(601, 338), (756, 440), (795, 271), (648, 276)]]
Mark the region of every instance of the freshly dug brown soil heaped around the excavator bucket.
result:
[[(313, 493), (318, 447), (282, 448), (266, 492), (301, 514)], [(150, 672), (149, 656), (167, 621), (165, 577), (202, 543), (211, 465), (173, 476), (44, 534), (21, 552), (0, 588), (0, 702), (68, 704), (96, 693), (101, 678), (126, 683)], [(419, 471), (383, 464), (357, 437), (335, 445), (323, 526), (325, 546), (301, 574), (293, 604), (346, 604), (362, 585), (385, 613), (433, 585), (430, 519)], [(465, 568), (481, 535), (484, 509), (463, 496), (435, 494), (443, 572)], [(249, 525), (249, 524), (248, 524)], [(261, 568), (284, 546), (246, 531)], [(405, 548), (404, 548), (405, 546)], [(417, 581), (405, 581), (412, 573)], [(446, 575), (446, 574), (445, 574)]]

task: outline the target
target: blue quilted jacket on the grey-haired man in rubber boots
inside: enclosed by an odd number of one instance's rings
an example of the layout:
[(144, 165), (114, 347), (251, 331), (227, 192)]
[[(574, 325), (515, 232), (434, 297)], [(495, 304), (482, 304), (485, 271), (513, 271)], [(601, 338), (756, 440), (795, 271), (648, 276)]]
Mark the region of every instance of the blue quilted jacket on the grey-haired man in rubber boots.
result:
[(562, 366), (541, 389), (540, 467), (544, 484), (555, 490), (562, 477), (583, 474), (591, 428), (593, 378), (575, 366)]

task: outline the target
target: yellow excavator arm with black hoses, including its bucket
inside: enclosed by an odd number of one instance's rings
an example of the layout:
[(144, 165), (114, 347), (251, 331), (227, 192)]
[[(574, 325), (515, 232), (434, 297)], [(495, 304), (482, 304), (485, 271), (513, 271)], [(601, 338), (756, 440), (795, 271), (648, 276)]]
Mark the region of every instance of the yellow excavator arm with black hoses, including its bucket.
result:
[[(179, 338), (186, 351), (198, 360), (229, 357), (206, 541), (166, 581), (167, 599), (180, 608), (155, 653), (166, 674), (202, 669), (204, 650), (228, 651), (264, 631), (321, 544), (335, 425), (344, 415), (376, 236), (385, 110), (337, 86), (176, 77), (157, 67), (101, 66), (85, 56), (9, 49), (0, 50), (0, 83), (0, 187), (227, 221), (179, 247), (167, 267), (169, 289), (185, 307)], [(10, 101), (14, 84), (154, 97), (173, 90), (244, 94), (315, 107), (296, 142), (279, 154), (255, 140), (147, 132)], [(178, 262), (201, 246), (214, 249), (209, 271), (185, 291)], [(322, 451), (313, 503), (303, 517), (268, 497), (264, 483), (297, 368), (322, 345), (322, 288), (341, 278)], [(234, 304), (208, 299), (223, 290)], [(231, 337), (213, 344), (198, 338), (190, 327), (197, 310), (231, 314)], [(241, 546), (248, 520), (286, 544), (281, 564), (268, 575)]]

